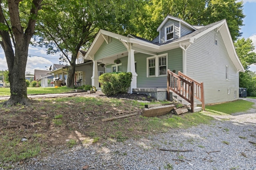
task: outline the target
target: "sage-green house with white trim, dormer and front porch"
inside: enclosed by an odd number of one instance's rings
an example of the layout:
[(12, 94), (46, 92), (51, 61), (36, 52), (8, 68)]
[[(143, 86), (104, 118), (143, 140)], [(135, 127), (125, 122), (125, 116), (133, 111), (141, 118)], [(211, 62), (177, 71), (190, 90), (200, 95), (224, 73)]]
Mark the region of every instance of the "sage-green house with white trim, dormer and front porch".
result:
[[(206, 104), (238, 99), (239, 72), (244, 68), (226, 20), (193, 26), (167, 16), (157, 31), (159, 35), (148, 41), (101, 29), (85, 55), (94, 63), (92, 85), (98, 87), (96, 63), (102, 62), (106, 72), (132, 72), (129, 93), (151, 93), (158, 100), (166, 99), (169, 69), (204, 82)], [(121, 63), (114, 63), (115, 59)]]

